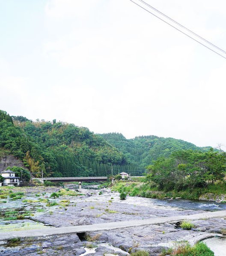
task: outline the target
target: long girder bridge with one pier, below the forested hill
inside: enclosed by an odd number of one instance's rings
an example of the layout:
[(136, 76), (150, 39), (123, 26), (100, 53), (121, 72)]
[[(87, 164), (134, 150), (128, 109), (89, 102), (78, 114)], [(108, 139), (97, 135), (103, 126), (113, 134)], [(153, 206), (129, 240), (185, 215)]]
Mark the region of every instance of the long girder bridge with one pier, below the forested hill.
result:
[(43, 177), (43, 178), (36, 178), (44, 183), (45, 180), (51, 182), (79, 182), (79, 188), (81, 189), (82, 182), (92, 182), (92, 181), (107, 181), (107, 177), (99, 176), (99, 177)]

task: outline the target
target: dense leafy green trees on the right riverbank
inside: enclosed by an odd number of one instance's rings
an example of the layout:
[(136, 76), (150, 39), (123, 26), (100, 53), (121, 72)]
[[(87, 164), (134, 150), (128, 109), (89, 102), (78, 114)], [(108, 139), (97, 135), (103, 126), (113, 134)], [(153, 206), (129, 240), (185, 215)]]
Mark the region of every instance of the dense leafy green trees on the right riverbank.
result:
[(147, 181), (164, 191), (205, 188), (208, 184), (224, 182), (226, 153), (184, 150), (168, 158), (158, 158), (148, 167)]

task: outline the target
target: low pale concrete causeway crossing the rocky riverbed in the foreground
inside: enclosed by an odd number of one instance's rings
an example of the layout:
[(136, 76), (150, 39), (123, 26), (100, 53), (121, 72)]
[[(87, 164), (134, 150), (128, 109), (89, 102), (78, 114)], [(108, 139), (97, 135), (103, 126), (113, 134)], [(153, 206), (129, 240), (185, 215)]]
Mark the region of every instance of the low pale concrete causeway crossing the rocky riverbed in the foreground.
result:
[(98, 231), (113, 230), (113, 229), (125, 229), (125, 228), (131, 228), (136, 226), (162, 224), (162, 223), (172, 222), (172, 221), (211, 219), (211, 218), (224, 218), (224, 217), (226, 217), (226, 210), (216, 211), (216, 212), (196, 213), (196, 214), (184, 215), (184, 216), (180, 215), (180, 216), (169, 216), (169, 217), (156, 217), (156, 218), (142, 219), (142, 220), (98, 223), (98, 224), (84, 225), (84, 226), (68, 226), (68, 227), (60, 227), (60, 228), (51, 227), (51, 228), (45, 228), (45, 229), (33, 229), (33, 230), (26, 230), (26, 231), (7, 232), (7, 233), (0, 232), (0, 241), (8, 240), (11, 238), (68, 235), (73, 233), (86, 233), (86, 232), (98, 232)]

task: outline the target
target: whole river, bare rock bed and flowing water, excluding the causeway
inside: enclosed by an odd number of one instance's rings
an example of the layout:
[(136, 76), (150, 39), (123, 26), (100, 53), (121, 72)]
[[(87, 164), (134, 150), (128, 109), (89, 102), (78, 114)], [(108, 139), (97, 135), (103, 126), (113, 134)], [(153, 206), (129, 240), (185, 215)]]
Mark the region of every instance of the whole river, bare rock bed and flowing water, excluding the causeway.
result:
[[(74, 190), (74, 186), (69, 187), (71, 190)], [(74, 188), (77, 189), (77, 187)], [(23, 190), (23, 188), (18, 189)], [(24, 188), (24, 195), (21, 199), (12, 200), (9, 197), (2, 199), (0, 210), (8, 214), (5, 217), (9, 218), (11, 216), (9, 211), (12, 214), (15, 211), (19, 214), (27, 212), (28, 217), (16, 220), (2, 219), (0, 221), (0, 232), (37, 228), (45, 229), (47, 224), (50, 229), (53, 228), (51, 226), (80, 226), (95, 223), (103, 223), (104, 225), (107, 222), (136, 221), (152, 217), (190, 215), (204, 213), (205, 211), (226, 210), (226, 203), (213, 203), (209, 201), (159, 200), (130, 196), (127, 196), (126, 200), (120, 200), (118, 192), (111, 192), (110, 189), (97, 189), (97, 186), (83, 186), (83, 189), (79, 191), (82, 195), (78, 196), (61, 195), (51, 198), (52, 192), (59, 192), (59, 188)], [(56, 202), (56, 204), (48, 206), (45, 200), (49, 203)], [(223, 222), (225, 223), (223, 224)], [(45, 247), (42, 251), (50, 254), (52, 253), (51, 246), (53, 246), (61, 248), (61, 255), (70, 255), (68, 250), (74, 250), (74, 255), (86, 255), (88, 253), (103, 255), (106, 250), (118, 255), (126, 255), (130, 248), (133, 248), (133, 250), (136, 248), (138, 250), (149, 250), (151, 255), (158, 255), (157, 253), (161, 252), (164, 244), (167, 246), (167, 244), (172, 244), (173, 241), (181, 241), (183, 239), (190, 241), (191, 238), (199, 235), (220, 232), (219, 230), (222, 225), (225, 225), (224, 227), (226, 228), (226, 220), (221, 219), (201, 219), (194, 221), (194, 224), (197, 229), (188, 231), (178, 228), (175, 223), (164, 223), (104, 231), (101, 232), (102, 235), (97, 241), (87, 241), (86, 238), (79, 240), (78, 238), (72, 236), (70, 238), (68, 236), (63, 237), (63, 239), (57, 238), (58, 240), (41, 241), (40, 244), (43, 246), (42, 248)], [(90, 237), (96, 235), (99, 234), (95, 232), (89, 233)], [(74, 242), (75, 239), (76, 242)], [(226, 255), (223, 254), (226, 248), (224, 239), (210, 238), (204, 242), (214, 251), (216, 256)], [(13, 247), (13, 249), (2, 247), (2, 250), (4, 254), (6, 252), (9, 253), (8, 255), (11, 255), (12, 251), (16, 252), (16, 250), (26, 255), (28, 250), (38, 250), (37, 248), (40, 248), (40, 244), (39, 241), (33, 241), (32, 248), (30, 248), (29, 243), (25, 243), (23, 247)], [(46, 248), (46, 244), (49, 244), (49, 249)], [(89, 248), (90, 246), (92, 248)], [(119, 247), (123, 250), (120, 251)]]

